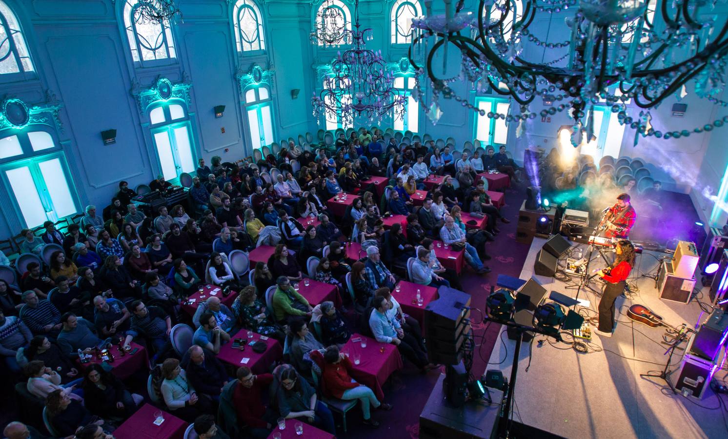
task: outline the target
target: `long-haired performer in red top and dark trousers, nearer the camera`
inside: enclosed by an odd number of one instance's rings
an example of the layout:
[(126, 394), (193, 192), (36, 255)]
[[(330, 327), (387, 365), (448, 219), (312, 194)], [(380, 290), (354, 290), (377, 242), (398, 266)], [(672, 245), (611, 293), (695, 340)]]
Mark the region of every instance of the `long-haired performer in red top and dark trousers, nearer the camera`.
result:
[(635, 264), (635, 248), (632, 242), (621, 240), (617, 242), (617, 258), (614, 264), (606, 269), (599, 270), (597, 275), (604, 279), (604, 291), (599, 301), (599, 325), (596, 333), (601, 336), (611, 337), (614, 331), (614, 301), (617, 300), (627, 286), (627, 278), (630, 276), (632, 267)]

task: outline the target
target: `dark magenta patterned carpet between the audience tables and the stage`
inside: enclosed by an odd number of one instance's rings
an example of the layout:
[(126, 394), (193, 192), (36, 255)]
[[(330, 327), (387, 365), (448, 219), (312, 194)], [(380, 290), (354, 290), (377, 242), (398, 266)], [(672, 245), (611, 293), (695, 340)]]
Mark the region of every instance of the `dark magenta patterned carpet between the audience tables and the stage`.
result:
[[(471, 306), (473, 309), (485, 309), (486, 297), (491, 290), (491, 283), (495, 285), (498, 274), (509, 274), (518, 277), (521, 273), (523, 261), (529, 252), (529, 245), (515, 242), (515, 228), (518, 220), (518, 209), (521, 202), (526, 198), (526, 191), (521, 187), (508, 189), (505, 194), (506, 205), (501, 212), (510, 219), (510, 224), (499, 223), (500, 234), (495, 242), (488, 243), (488, 254), (492, 257), (485, 261), (492, 272), (478, 276), (472, 271), (464, 272), (461, 280), (466, 293), (472, 296)], [(472, 320), (480, 319), (478, 311), (472, 312)], [(497, 342), (499, 325), (476, 324), (475, 328), (475, 360), (473, 361), (472, 373), (480, 376), (486, 371), (488, 357), (490, 357), (494, 344)], [(494, 368), (491, 365), (491, 368)], [(444, 372), (444, 371), (443, 371)], [(339, 438), (372, 438), (373, 435), (382, 435), (385, 438), (419, 438), (419, 414), (422, 412), (424, 403), (430, 397), (432, 387), (438, 380), (440, 371), (430, 371), (426, 375), (420, 374), (413, 365), (405, 363), (405, 368), (392, 375), (384, 387), (385, 400), (392, 403), (392, 411), (373, 411), (373, 416), (381, 426), (377, 430), (371, 430), (360, 424), (361, 412), (358, 408), (349, 412), (348, 432), (340, 432)], [(335, 416), (338, 421), (338, 417)]]

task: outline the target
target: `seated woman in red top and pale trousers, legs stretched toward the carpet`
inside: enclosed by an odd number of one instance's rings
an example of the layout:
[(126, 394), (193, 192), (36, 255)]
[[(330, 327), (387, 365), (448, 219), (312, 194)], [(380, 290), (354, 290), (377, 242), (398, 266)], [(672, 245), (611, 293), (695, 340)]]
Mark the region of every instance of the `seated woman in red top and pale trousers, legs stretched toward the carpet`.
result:
[(372, 428), (379, 427), (379, 422), (371, 419), (369, 406), (381, 410), (392, 410), (392, 405), (380, 403), (372, 389), (352, 379), (351, 375), (349, 375), (352, 370), (352, 362), (349, 357), (340, 354), (339, 347), (336, 347), (336, 345), (326, 348), (326, 352), (323, 354), (323, 363), (320, 362), (321, 354), (319, 351), (311, 352), (311, 357), (321, 365), (321, 392), (327, 398), (360, 400), (362, 413), (364, 414), (364, 424)]

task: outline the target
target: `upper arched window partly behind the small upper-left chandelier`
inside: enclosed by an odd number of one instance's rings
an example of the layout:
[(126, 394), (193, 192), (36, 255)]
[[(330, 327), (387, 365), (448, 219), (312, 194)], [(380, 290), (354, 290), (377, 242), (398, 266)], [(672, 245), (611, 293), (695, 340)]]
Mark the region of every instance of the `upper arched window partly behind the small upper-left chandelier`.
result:
[(177, 58), (170, 23), (138, 23), (138, 0), (124, 4), (124, 27), (135, 63)]

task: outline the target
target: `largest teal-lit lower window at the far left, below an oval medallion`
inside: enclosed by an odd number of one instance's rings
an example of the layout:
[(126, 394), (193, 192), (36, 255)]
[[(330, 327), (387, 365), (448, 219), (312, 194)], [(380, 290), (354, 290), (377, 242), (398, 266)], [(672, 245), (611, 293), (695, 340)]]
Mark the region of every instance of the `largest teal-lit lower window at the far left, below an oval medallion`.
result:
[(5, 134), (0, 175), (20, 222), (35, 227), (78, 212), (73, 179), (53, 136), (45, 131)]

